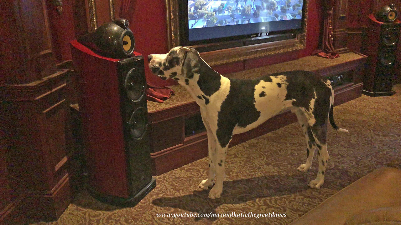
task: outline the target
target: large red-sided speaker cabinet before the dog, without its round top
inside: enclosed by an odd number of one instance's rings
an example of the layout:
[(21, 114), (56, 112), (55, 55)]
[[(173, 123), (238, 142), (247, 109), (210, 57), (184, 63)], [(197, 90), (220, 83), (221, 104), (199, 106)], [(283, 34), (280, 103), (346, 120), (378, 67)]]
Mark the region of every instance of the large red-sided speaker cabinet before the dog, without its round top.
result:
[(93, 197), (133, 206), (155, 186), (151, 175), (143, 57), (118, 60), (71, 42)]

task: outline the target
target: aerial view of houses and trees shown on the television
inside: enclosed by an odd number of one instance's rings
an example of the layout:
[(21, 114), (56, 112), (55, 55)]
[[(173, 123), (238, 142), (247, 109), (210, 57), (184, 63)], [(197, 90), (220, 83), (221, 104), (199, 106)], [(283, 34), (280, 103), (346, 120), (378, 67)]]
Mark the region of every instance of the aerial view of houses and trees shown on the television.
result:
[(302, 18), (303, 0), (188, 0), (188, 28)]

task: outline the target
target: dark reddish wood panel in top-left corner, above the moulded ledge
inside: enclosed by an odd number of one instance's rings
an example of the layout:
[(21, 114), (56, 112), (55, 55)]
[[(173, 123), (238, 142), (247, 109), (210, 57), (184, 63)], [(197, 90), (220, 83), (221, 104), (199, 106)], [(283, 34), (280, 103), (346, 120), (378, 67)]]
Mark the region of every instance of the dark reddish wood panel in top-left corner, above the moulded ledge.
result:
[(45, 0), (0, 2), (0, 84), (23, 84), (56, 71)]

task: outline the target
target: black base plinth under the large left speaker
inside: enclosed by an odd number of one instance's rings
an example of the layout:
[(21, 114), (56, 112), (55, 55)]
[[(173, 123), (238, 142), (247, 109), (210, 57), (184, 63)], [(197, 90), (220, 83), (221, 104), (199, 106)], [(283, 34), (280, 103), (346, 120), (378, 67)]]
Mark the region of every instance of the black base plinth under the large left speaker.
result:
[(136, 204), (138, 204), (152, 189), (156, 187), (156, 179), (152, 177), (152, 180), (145, 185), (142, 190), (140, 190), (136, 195), (132, 198), (122, 198), (122, 197), (117, 197), (117, 196), (111, 196), (111, 195), (105, 195), (102, 193), (99, 193), (92, 189), (91, 187), (88, 188), (89, 194), (95, 198), (96, 200), (106, 203), (109, 205), (115, 205), (115, 206), (121, 206), (121, 207), (134, 207)]

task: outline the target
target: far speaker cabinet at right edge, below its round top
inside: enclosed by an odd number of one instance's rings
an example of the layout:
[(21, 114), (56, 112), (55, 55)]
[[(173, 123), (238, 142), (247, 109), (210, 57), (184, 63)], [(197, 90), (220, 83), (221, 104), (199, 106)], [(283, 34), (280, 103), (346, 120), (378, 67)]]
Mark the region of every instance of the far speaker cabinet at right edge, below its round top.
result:
[(397, 46), (401, 22), (384, 23), (369, 15), (369, 24), (363, 35), (362, 53), (368, 56), (363, 76), (363, 94), (386, 96), (391, 89), (397, 68)]

